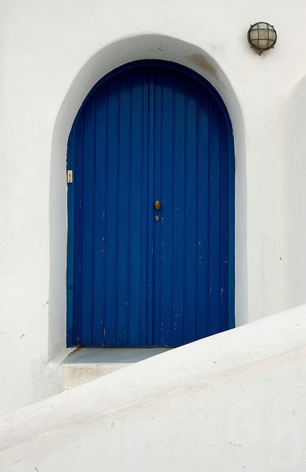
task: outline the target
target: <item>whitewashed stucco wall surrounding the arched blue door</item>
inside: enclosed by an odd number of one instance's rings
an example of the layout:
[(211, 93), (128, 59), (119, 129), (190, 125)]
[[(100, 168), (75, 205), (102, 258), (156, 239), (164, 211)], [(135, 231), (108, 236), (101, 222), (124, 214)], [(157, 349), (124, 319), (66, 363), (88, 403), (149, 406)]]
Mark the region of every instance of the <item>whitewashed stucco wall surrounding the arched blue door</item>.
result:
[[(3, 0), (0, 8), (1, 412), (60, 389), (48, 361), (65, 355), (67, 137), (92, 85), (123, 62), (177, 60), (208, 78), (228, 106), (237, 161), (237, 323), (277, 312), (283, 299), (286, 306), (305, 301), (302, 284), (291, 292), (286, 280), (303, 271), (289, 261), (305, 253), (306, 226), (298, 239), (283, 239), (291, 205), (305, 192), (303, 133), (296, 199), (283, 185), (295, 140), (284, 133), (284, 103), (306, 73), (303, 1), (288, 8), (280, 0)], [(278, 44), (259, 57), (246, 31), (262, 19), (275, 25)], [(298, 92), (296, 106), (303, 99)], [(289, 110), (291, 124), (301, 113)]]

